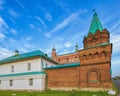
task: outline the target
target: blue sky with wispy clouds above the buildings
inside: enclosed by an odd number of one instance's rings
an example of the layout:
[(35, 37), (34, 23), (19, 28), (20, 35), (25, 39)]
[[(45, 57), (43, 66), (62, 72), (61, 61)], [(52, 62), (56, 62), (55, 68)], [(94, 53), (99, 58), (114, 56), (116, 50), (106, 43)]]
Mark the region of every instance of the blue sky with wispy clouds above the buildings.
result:
[(113, 76), (120, 75), (120, 0), (0, 0), (0, 59), (42, 50), (49, 56), (53, 43), (57, 54), (83, 48), (92, 9), (96, 9), (113, 43)]

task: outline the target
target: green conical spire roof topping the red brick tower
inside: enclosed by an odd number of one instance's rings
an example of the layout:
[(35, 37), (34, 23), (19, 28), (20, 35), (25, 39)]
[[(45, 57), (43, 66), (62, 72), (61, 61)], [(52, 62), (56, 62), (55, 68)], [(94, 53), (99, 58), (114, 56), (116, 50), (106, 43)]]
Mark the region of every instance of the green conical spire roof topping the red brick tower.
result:
[(95, 12), (93, 15), (91, 25), (90, 25), (89, 34), (90, 33), (94, 34), (97, 30), (102, 31), (103, 27), (98, 19), (97, 13)]

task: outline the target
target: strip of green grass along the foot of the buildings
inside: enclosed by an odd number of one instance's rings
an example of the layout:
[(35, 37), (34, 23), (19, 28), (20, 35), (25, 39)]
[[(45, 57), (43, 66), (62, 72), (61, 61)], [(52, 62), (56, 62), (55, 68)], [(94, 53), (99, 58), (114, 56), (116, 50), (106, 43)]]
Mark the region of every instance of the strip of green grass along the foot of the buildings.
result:
[[(16, 94), (16, 95), (13, 95)], [(27, 92), (27, 91), (0, 91), (0, 96), (113, 96), (107, 92), (89, 91), (46, 91), (46, 92)]]

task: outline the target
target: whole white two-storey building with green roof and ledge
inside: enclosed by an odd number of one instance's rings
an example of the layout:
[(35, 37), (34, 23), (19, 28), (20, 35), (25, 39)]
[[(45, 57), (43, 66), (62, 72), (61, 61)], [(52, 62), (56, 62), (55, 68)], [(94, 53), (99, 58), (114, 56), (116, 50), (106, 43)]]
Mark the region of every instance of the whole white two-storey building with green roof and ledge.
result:
[(0, 60), (0, 90), (36, 90), (47, 88), (44, 67), (56, 64), (40, 50), (16, 54)]

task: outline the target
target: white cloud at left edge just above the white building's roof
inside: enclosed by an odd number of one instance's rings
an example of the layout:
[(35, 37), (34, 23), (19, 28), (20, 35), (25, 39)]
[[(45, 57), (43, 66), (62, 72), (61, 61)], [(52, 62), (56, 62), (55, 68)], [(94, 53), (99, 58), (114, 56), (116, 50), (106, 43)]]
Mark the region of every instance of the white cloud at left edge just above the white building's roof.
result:
[(2, 48), (0, 47), (0, 59), (6, 58), (8, 56), (13, 55), (13, 52), (6, 49), (6, 48)]

